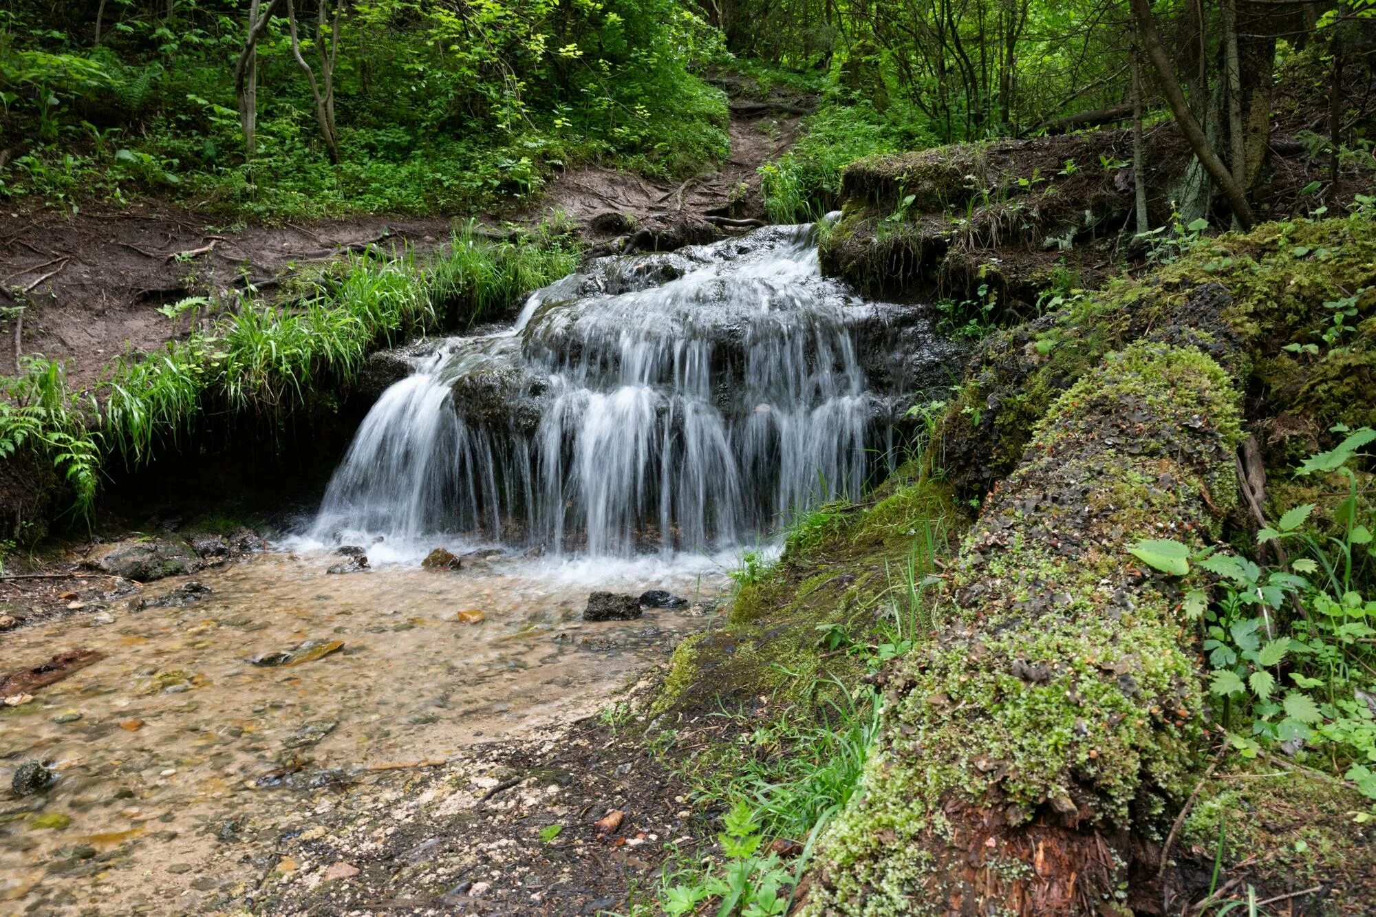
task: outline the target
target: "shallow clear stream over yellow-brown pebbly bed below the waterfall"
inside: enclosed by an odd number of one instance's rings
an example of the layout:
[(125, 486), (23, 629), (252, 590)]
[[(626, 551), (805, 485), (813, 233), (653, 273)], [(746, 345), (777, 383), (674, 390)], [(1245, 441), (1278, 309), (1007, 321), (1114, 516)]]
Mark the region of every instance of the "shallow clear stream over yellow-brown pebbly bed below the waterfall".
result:
[[(184, 607), (136, 611), (121, 598), (3, 637), (0, 672), (72, 647), (105, 658), (0, 708), (0, 913), (125, 913), (131, 899), (176, 911), (160, 895), (191, 878), (226, 822), (338, 775), (590, 715), (705, 621), (696, 606), (583, 622), (589, 589), (666, 588), (692, 602), (722, 580), (707, 563), (694, 574), (508, 559), (327, 576), (340, 560), (264, 554), (194, 577), (212, 592)], [(311, 640), (343, 646), (297, 665), (253, 664)], [(12, 799), (10, 775), (29, 759), (59, 779)]]

